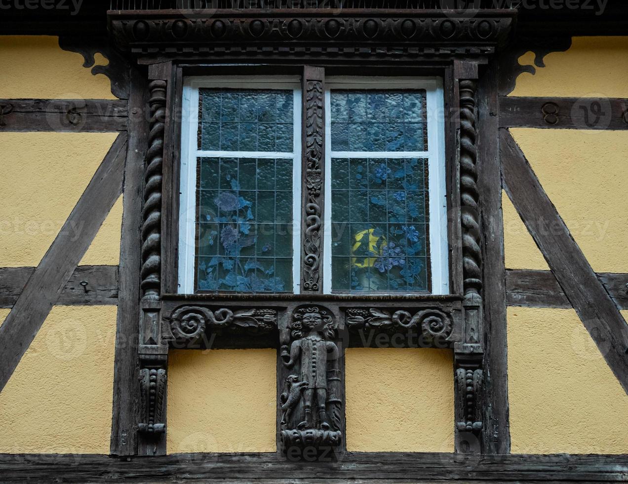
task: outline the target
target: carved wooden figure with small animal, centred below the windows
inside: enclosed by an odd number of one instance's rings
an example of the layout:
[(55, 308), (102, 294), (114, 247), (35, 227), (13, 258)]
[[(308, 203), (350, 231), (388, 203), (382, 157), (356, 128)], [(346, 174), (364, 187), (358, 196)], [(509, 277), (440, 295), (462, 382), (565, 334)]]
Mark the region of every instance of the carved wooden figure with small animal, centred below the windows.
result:
[(281, 331), (280, 351), (283, 451), (295, 456), (306, 448), (317, 453), (337, 448), (344, 431), (344, 383), (342, 345), (332, 312), (319, 305), (295, 309)]

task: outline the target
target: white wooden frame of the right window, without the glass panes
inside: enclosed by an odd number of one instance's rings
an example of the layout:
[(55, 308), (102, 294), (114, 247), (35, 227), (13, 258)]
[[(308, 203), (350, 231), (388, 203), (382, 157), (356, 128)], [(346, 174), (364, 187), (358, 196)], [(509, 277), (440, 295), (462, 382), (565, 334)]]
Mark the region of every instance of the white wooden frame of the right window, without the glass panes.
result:
[[(425, 89), (427, 151), (332, 151), (331, 102), (333, 89)], [(327, 77), (325, 79), (325, 193), (332, 192), (332, 158), (427, 158), (430, 197), (431, 294), (449, 294), (447, 239), (447, 185), (445, 170), (445, 97), (440, 77)], [(323, 234), (323, 292), (332, 293), (332, 202), (325, 203)], [(364, 294), (368, 294), (364, 292)], [(378, 293), (379, 294), (379, 293)], [(391, 292), (390, 294), (399, 294)]]

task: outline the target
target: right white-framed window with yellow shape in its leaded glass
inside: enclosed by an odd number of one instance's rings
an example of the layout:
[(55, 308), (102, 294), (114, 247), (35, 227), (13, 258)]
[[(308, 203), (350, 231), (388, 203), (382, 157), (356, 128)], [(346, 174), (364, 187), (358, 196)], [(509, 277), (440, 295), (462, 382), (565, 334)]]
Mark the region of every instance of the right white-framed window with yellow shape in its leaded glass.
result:
[(447, 294), (440, 85), (330, 78), (326, 86), (325, 292)]

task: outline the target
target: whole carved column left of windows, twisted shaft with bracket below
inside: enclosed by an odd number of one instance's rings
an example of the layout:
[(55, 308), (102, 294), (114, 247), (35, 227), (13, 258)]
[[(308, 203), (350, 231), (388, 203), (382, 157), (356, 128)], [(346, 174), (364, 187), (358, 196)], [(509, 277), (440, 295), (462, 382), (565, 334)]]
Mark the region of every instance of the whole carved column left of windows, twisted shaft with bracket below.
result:
[(161, 341), (161, 173), (166, 80), (149, 84), (150, 133), (144, 171), (141, 315), (139, 321), (138, 454), (165, 454), (168, 345)]

